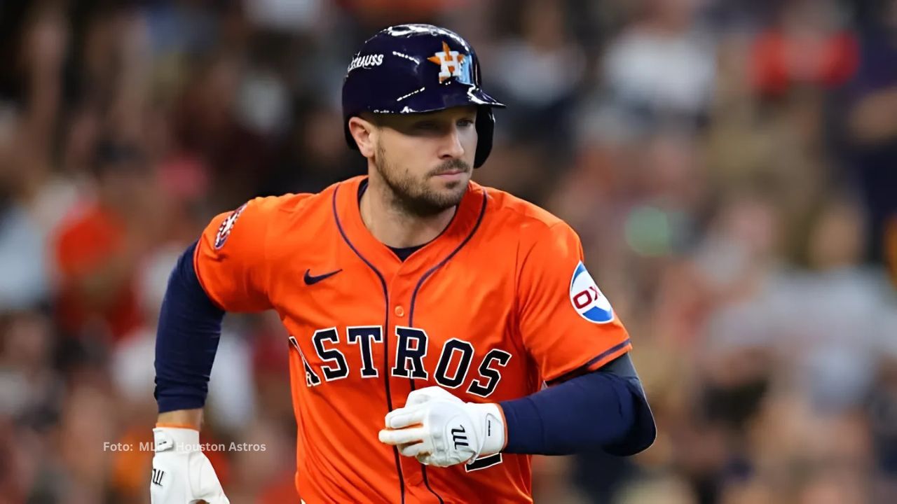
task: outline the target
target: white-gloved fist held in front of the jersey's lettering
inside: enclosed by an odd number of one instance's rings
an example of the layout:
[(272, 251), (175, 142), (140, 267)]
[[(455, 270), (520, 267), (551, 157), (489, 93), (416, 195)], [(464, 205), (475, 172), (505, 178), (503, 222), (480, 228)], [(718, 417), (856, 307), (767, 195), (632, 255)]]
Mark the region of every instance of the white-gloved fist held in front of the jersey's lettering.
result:
[(498, 453), (505, 442), (501, 406), (465, 403), (440, 387), (414, 390), (404, 408), (387, 414), (386, 426), (381, 442), (439, 467)]

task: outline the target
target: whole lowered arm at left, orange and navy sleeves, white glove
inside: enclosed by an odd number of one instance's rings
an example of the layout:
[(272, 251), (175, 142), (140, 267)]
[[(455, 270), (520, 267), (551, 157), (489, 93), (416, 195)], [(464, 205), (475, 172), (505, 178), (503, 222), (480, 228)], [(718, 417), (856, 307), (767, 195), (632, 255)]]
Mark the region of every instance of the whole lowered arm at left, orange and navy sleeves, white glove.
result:
[(153, 504), (229, 502), (199, 448), (199, 430), (225, 311), (269, 306), (266, 224), (263, 200), (219, 215), (171, 272), (156, 335)]

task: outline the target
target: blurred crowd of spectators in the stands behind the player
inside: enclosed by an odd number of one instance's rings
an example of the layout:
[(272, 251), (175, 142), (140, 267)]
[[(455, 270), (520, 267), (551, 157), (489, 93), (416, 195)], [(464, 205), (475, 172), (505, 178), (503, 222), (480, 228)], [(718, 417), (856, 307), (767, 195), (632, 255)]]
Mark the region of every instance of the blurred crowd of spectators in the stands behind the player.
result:
[[(152, 439), (175, 257), (365, 169), (342, 79), (398, 22), (473, 43), (509, 105), (475, 178), (579, 231), (658, 421), (536, 457), (536, 501), (897, 502), (897, 1), (4, 0), (0, 504), (148, 502), (104, 443)], [(266, 450), (208, 455), (296, 502), (286, 335), (224, 332), (204, 441)]]

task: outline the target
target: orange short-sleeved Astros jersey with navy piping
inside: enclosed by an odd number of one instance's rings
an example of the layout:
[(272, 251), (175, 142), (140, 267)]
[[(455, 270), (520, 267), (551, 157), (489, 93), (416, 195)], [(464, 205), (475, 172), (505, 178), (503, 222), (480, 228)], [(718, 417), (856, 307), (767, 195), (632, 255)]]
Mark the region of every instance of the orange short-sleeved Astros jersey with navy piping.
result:
[(628, 352), (579, 238), (535, 205), (471, 182), (448, 228), (403, 262), (361, 221), (364, 179), (253, 199), (216, 217), (196, 247), (216, 304), (273, 308), (290, 334), (300, 496), (531, 501), (530, 456), (432, 467), (378, 431), (416, 388), (496, 403)]

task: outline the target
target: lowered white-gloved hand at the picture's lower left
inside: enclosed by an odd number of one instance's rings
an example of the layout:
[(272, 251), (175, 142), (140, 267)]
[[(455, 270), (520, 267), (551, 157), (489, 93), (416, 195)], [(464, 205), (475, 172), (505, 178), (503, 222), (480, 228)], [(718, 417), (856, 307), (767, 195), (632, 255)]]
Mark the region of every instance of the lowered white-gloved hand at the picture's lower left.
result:
[(199, 449), (199, 431), (157, 427), (152, 457), (152, 504), (230, 504), (212, 463)]

